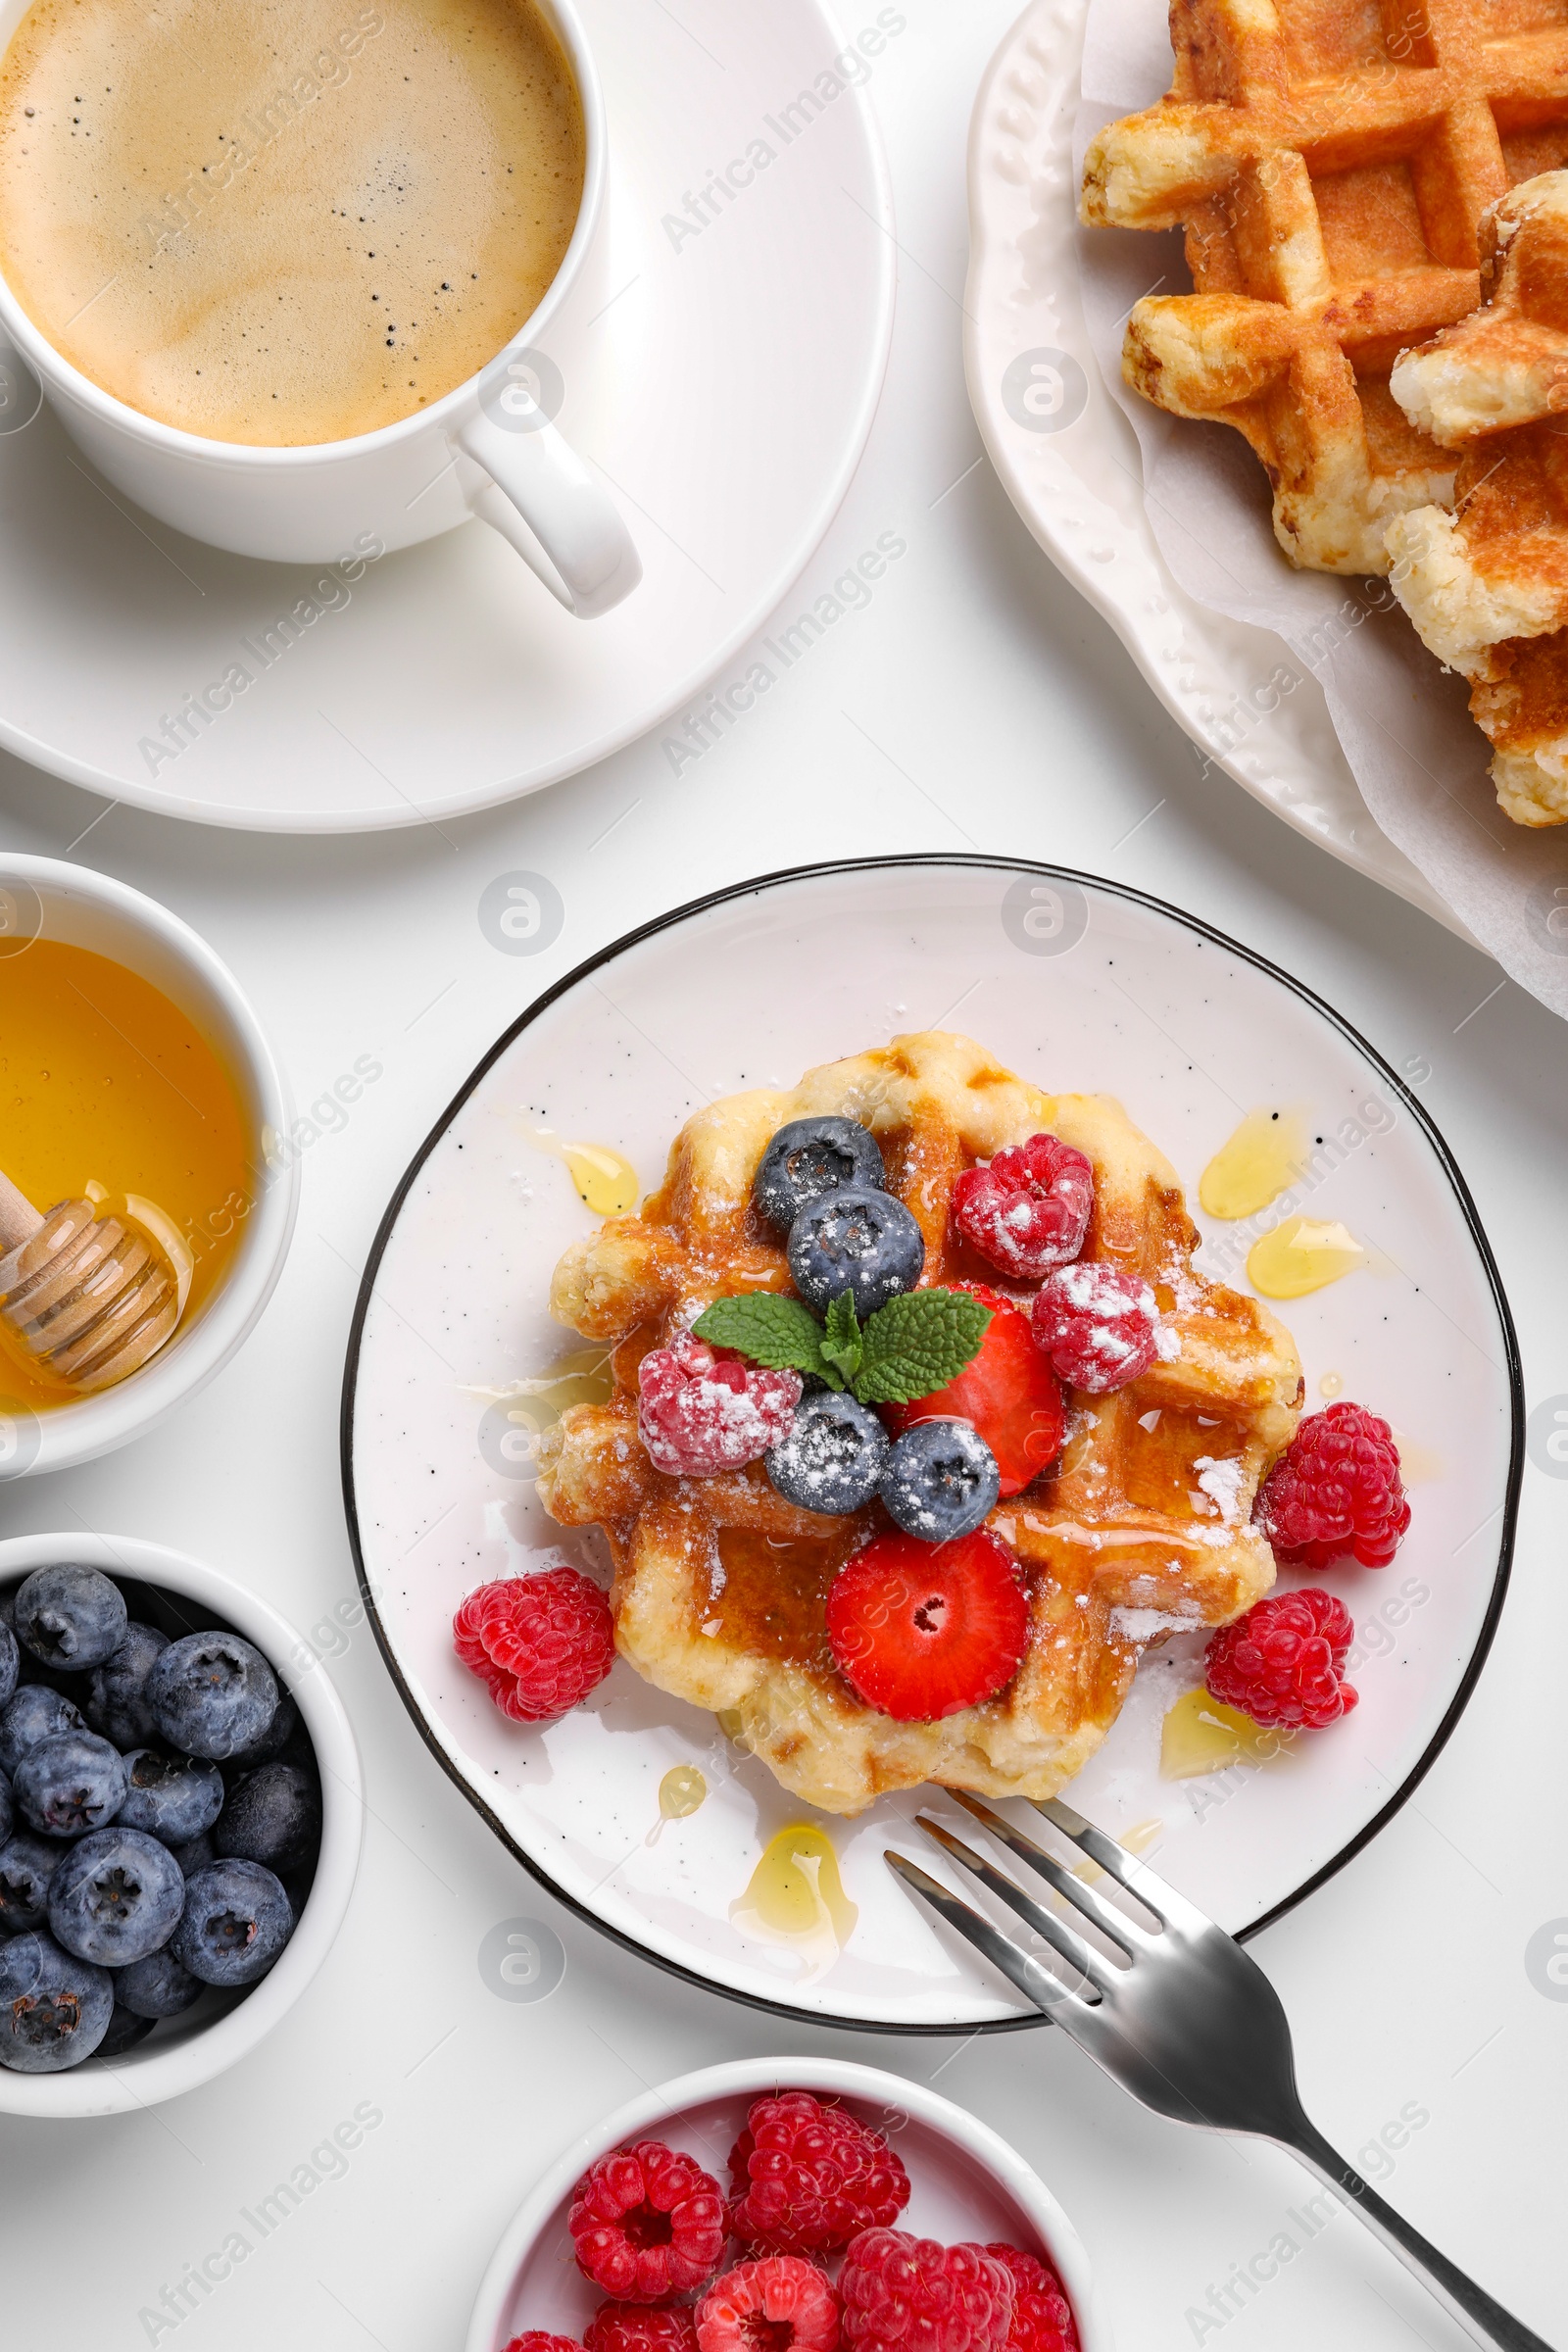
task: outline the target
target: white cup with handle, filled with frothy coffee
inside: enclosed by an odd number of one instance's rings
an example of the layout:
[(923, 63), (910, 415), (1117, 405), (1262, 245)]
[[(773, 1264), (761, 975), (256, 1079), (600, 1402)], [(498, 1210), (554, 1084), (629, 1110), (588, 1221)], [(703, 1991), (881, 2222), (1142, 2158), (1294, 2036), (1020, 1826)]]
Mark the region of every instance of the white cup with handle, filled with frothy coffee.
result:
[(538, 350), (607, 179), (571, 0), (183, 0), (150, 26), (0, 0), (0, 336), (99, 473), (237, 555), (334, 562), (480, 515), (581, 619), (630, 595), (637, 548)]

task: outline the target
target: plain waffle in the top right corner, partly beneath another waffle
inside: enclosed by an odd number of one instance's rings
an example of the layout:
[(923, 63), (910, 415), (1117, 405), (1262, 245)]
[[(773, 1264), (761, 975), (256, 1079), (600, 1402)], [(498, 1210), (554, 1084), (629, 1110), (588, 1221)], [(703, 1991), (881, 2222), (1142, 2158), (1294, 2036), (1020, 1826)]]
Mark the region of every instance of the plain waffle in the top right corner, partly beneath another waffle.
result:
[(1126, 381), (1234, 426), (1295, 564), (1382, 574), (1453, 461), (1389, 393), (1479, 301), (1481, 214), (1568, 160), (1563, 0), (1171, 0), (1175, 87), (1107, 125), (1081, 216), (1185, 228), (1192, 294), (1145, 296)]

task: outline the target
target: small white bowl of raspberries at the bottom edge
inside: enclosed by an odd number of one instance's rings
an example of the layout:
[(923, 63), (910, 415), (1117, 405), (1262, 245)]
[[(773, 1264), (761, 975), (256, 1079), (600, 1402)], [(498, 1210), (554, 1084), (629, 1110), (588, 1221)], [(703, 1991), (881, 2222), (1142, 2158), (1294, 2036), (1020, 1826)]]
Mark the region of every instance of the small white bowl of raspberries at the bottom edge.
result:
[(743, 2058), (545, 2173), (465, 2352), (1112, 2352), (1077, 2230), (994, 2131), (898, 2074)]

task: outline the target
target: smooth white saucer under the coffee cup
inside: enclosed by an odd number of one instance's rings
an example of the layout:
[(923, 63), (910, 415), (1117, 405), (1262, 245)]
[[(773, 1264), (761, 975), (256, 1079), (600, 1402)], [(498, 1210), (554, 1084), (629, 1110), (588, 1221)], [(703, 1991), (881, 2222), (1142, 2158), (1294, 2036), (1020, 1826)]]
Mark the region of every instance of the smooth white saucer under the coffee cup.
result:
[[(571, 621), (470, 522), (357, 581), (329, 579), (320, 619), (275, 640), (263, 668), (244, 647), (317, 574), (221, 555), (127, 510), (47, 409), (5, 430), (0, 395), (7, 750), (216, 826), (411, 826), (602, 760), (689, 708), (757, 633), (823, 539), (882, 390), (896, 249), (867, 82), (832, 75), (846, 42), (820, 0), (583, 0), (583, 19), (611, 188), (548, 358), (559, 423), (637, 539), (642, 588), (602, 621)], [(863, 71), (875, 82), (877, 59)], [(818, 96), (818, 75), (839, 94)], [(750, 186), (733, 172), (738, 193), (710, 195), (717, 216), (693, 228), (686, 198), (755, 141), (773, 160), (752, 151)], [(254, 684), (179, 757), (139, 748), (235, 661)]]

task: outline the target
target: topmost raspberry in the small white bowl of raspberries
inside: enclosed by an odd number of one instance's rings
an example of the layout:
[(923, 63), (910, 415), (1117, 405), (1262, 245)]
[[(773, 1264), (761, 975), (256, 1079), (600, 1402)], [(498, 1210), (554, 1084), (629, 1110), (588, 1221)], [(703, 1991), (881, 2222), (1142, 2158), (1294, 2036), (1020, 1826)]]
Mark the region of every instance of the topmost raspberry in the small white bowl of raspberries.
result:
[(910, 2176), (882, 2133), (811, 2091), (752, 2100), (729, 2178), (731, 2230), (773, 2253), (846, 2246), (856, 2230), (886, 2227), (910, 2201)]

